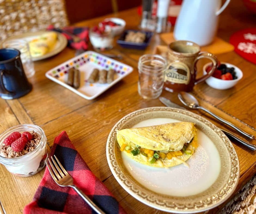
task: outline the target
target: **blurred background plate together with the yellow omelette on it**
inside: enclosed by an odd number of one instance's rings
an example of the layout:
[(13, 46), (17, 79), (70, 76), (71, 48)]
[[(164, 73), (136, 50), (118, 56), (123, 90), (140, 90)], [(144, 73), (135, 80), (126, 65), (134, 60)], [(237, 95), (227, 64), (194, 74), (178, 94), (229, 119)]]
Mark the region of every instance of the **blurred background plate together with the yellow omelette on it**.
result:
[(28, 42), (32, 61), (54, 56), (68, 44), (66, 37), (55, 31), (29, 32), (8, 38), (8, 40), (12, 39), (23, 39)]

